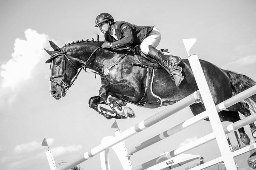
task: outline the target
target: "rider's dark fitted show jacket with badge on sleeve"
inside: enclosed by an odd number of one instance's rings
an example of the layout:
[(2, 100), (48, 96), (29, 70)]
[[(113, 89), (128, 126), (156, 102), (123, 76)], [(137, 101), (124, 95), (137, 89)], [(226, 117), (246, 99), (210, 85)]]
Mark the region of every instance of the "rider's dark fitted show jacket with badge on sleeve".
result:
[(113, 42), (113, 49), (128, 45), (132, 47), (139, 45), (154, 28), (154, 26), (136, 26), (125, 21), (116, 21), (113, 24), (118, 40), (115, 40), (111, 34), (104, 35), (106, 41)]

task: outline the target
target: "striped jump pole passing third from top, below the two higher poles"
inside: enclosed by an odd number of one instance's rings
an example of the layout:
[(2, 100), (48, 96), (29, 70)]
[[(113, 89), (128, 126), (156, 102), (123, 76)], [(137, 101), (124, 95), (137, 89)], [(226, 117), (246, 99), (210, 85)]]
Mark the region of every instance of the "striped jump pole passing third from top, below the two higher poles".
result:
[[(254, 121), (256, 121), (256, 114), (250, 115), (250, 116), (248, 116), (248, 117), (246, 117), (246, 118), (244, 118), (242, 120), (239, 120), (237, 122), (229, 124), (228, 126), (226, 126), (223, 129), (224, 133), (228, 134), (228, 133), (233, 132), (233, 131), (235, 131), (235, 130), (237, 130), (239, 128), (242, 128), (243, 126), (248, 125), (248, 124), (250, 124), (250, 123), (252, 123)], [(182, 154), (182, 153), (184, 153), (186, 151), (189, 151), (189, 150), (191, 150), (193, 148), (196, 148), (196, 147), (198, 147), (200, 145), (203, 145), (204, 143), (207, 143), (207, 142), (212, 141), (214, 139), (215, 139), (215, 134), (214, 134), (214, 132), (212, 132), (212, 133), (210, 133), (208, 135), (205, 135), (205, 136), (203, 136), (203, 137), (201, 137), (201, 138), (199, 138), (199, 139), (197, 139), (197, 140), (195, 140), (193, 142), (188, 143), (187, 145), (184, 145), (184, 146), (179, 147), (179, 148), (177, 148), (175, 150), (172, 150), (171, 152), (169, 152), (169, 153), (167, 153), (165, 155), (156, 157), (156, 158), (154, 158), (154, 159), (152, 159), (152, 160), (150, 160), (150, 161), (148, 161), (148, 162), (146, 162), (144, 164), (141, 164), (141, 165), (139, 165), (137, 167), (134, 167), (134, 168), (132, 168), (132, 170), (143, 170), (143, 169), (149, 168), (151, 166), (159, 164), (159, 163), (161, 163), (161, 162), (163, 162), (163, 161), (165, 161), (167, 159), (170, 159), (170, 158), (172, 158), (174, 156), (180, 155), (180, 154)]]

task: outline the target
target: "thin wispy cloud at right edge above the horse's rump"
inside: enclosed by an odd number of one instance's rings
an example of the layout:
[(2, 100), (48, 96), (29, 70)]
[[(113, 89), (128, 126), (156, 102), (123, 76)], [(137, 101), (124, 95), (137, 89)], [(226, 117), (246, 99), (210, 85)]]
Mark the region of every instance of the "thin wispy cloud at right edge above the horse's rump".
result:
[(229, 69), (233, 67), (247, 66), (256, 63), (256, 55), (248, 55), (245, 57), (238, 58), (238, 60), (230, 62), (222, 66), (224, 69)]

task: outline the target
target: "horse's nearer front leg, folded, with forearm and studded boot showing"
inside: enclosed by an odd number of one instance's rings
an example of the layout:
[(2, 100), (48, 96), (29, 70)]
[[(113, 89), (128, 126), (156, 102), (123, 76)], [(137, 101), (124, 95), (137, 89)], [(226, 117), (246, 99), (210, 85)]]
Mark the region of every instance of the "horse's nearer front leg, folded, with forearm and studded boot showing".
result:
[(135, 117), (134, 112), (128, 106), (123, 104), (122, 100), (114, 98), (109, 93), (123, 95), (128, 98), (138, 96), (134, 87), (132, 87), (126, 80), (100, 87), (99, 96), (110, 106), (112, 111), (118, 115), (125, 117)]

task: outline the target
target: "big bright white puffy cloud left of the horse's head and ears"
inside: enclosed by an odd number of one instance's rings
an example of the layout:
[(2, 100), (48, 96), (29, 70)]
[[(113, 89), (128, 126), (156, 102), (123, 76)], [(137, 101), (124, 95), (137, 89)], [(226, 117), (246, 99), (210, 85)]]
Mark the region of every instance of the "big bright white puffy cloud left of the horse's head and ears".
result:
[(47, 46), (48, 35), (27, 29), (25, 37), (26, 40), (15, 40), (12, 58), (1, 65), (2, 87), (14, 89), (20, 82), (29, 79), (35, 65), (45, 56), (43, 48)]

